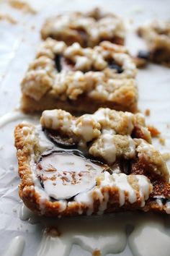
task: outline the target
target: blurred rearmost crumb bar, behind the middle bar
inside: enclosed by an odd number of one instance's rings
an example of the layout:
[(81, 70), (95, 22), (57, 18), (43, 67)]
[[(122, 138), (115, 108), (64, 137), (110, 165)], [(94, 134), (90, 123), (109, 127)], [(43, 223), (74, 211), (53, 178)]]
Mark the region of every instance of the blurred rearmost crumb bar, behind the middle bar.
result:
[(91, 12), (59, 14), (46, 20), (41, 30), (42, 39), (62, 40), (68, 46), (78, 42), (82, 47), (97, 46), (103, 40), (124, 44), (125, 26), (120, 17), (102, 13), (100, 9)]

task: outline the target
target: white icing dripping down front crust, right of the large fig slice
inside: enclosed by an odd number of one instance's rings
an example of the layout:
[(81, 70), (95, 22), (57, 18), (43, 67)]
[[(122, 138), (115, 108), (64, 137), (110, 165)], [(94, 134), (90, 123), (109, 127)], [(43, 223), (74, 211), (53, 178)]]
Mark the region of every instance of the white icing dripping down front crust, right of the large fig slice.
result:
[[(151, 183), (143, 175), (134, 175), (137, 179), (137, 184), (140, 192), (140, 200), (141, 206), (145, 205), (145, 200), (148, 199), (148, 196), (151, 192)], [(94, 211), (94, 200), (93, 195), (97, 195), (99, 199), (99, 214), (102, 214), (104, 210), (107, 208), (107, 202), (109, 200), (108, 192), (104, 195), (101, 192), (102, 187), (115, 187), (118, 189), (119, 192), (119, 200), (120, 206), (125, 204), (125, 193), (128, 192), (128, 201), (133, 204), (136, 202), (137, 198), (137, 191), (133, 189), (130, 182), (128, 181), (128, 176), (126, 174), (109, 174), (109, 172), (104, 171), (104, 179), (101, 179), (100, 184), (98, 187), (94, 187), (89, 192), (80, 193), (74, 197), (76, 202), (84, 203), (88, 206), (88, 211), (86, 212), (87, 215), (91, 215)], [(72, 203), (72, 202), (70, 202)]]

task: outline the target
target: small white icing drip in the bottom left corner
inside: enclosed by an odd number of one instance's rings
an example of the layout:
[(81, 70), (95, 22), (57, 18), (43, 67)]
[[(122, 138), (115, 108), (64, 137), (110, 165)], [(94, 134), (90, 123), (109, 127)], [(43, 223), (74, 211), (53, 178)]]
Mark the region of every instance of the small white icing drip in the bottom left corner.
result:
[(4, 253), (3, 256), (22, 256), (22, 252), (24, 250), (24, 237), (16, 236), (10, 242), (8, 249)]

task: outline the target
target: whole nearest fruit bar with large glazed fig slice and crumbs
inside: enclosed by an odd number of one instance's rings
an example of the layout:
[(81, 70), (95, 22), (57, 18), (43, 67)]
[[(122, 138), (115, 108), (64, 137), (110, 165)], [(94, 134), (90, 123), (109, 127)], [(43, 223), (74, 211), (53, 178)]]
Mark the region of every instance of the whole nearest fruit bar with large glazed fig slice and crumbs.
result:
[(141, 114), (99, 108), (75, 117), (44, 111), (17, 125), (19, 196), (35, 213), (170, 213), (169, 171)]

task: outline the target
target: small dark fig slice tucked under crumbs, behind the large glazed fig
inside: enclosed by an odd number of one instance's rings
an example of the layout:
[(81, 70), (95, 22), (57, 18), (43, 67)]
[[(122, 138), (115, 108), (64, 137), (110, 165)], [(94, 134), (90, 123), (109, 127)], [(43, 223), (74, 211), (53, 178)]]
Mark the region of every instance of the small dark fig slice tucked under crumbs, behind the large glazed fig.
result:
[(75, 148), (76, 142), (73, 141), (73, 138), (62, 137), (53, 129), (44, 129), (47, 137), (54, 142), (60, 148)]

